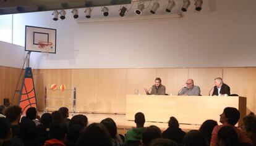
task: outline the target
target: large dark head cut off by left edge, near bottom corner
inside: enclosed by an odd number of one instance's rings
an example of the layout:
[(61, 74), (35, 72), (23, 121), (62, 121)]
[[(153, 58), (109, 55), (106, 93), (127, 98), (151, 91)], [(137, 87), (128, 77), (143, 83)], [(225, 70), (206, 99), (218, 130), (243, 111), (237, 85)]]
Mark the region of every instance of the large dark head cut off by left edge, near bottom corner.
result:
[(11, 138), (11, 122), (6, 118), (0, 118), (0, 140)]

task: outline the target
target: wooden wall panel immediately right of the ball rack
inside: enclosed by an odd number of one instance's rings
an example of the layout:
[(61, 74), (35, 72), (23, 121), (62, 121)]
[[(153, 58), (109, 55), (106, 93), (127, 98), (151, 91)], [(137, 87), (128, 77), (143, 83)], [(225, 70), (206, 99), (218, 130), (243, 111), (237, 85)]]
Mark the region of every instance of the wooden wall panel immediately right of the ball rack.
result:
[(98, 102), (98, 70), (72, 70), (73, 86), (77, 88), (77, 111), (95, 112)]

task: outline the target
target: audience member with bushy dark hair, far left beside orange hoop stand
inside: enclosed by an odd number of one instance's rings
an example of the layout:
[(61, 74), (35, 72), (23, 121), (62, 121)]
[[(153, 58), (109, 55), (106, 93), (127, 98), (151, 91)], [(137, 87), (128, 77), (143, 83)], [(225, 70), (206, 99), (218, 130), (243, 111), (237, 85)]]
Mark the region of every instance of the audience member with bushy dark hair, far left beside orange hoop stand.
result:
[(22, 114), (22, 108), (18, 105), (12, 105), (6, 108), (6, 118), (11, 121), (11, 128), (12, 128), (12, 137), (19, 135), (19, 121)]

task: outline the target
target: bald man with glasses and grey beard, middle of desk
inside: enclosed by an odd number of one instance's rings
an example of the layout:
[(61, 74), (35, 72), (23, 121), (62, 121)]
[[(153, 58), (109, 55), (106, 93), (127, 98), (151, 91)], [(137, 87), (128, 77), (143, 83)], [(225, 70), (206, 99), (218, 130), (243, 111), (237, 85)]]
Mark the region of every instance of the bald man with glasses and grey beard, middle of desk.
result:
[(194, 85), (193, 79), (187, 79), (186, 81), (187, 87), (183, 87), (178, 95), (200, 95), (200, 87)]

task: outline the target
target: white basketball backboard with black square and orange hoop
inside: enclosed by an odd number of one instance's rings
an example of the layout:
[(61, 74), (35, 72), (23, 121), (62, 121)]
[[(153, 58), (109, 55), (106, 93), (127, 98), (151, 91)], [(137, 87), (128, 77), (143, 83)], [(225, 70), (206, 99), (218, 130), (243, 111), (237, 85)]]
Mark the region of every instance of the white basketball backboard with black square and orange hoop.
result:
[(56, 54), (56, 29), (26, 25), (25, 51)]

